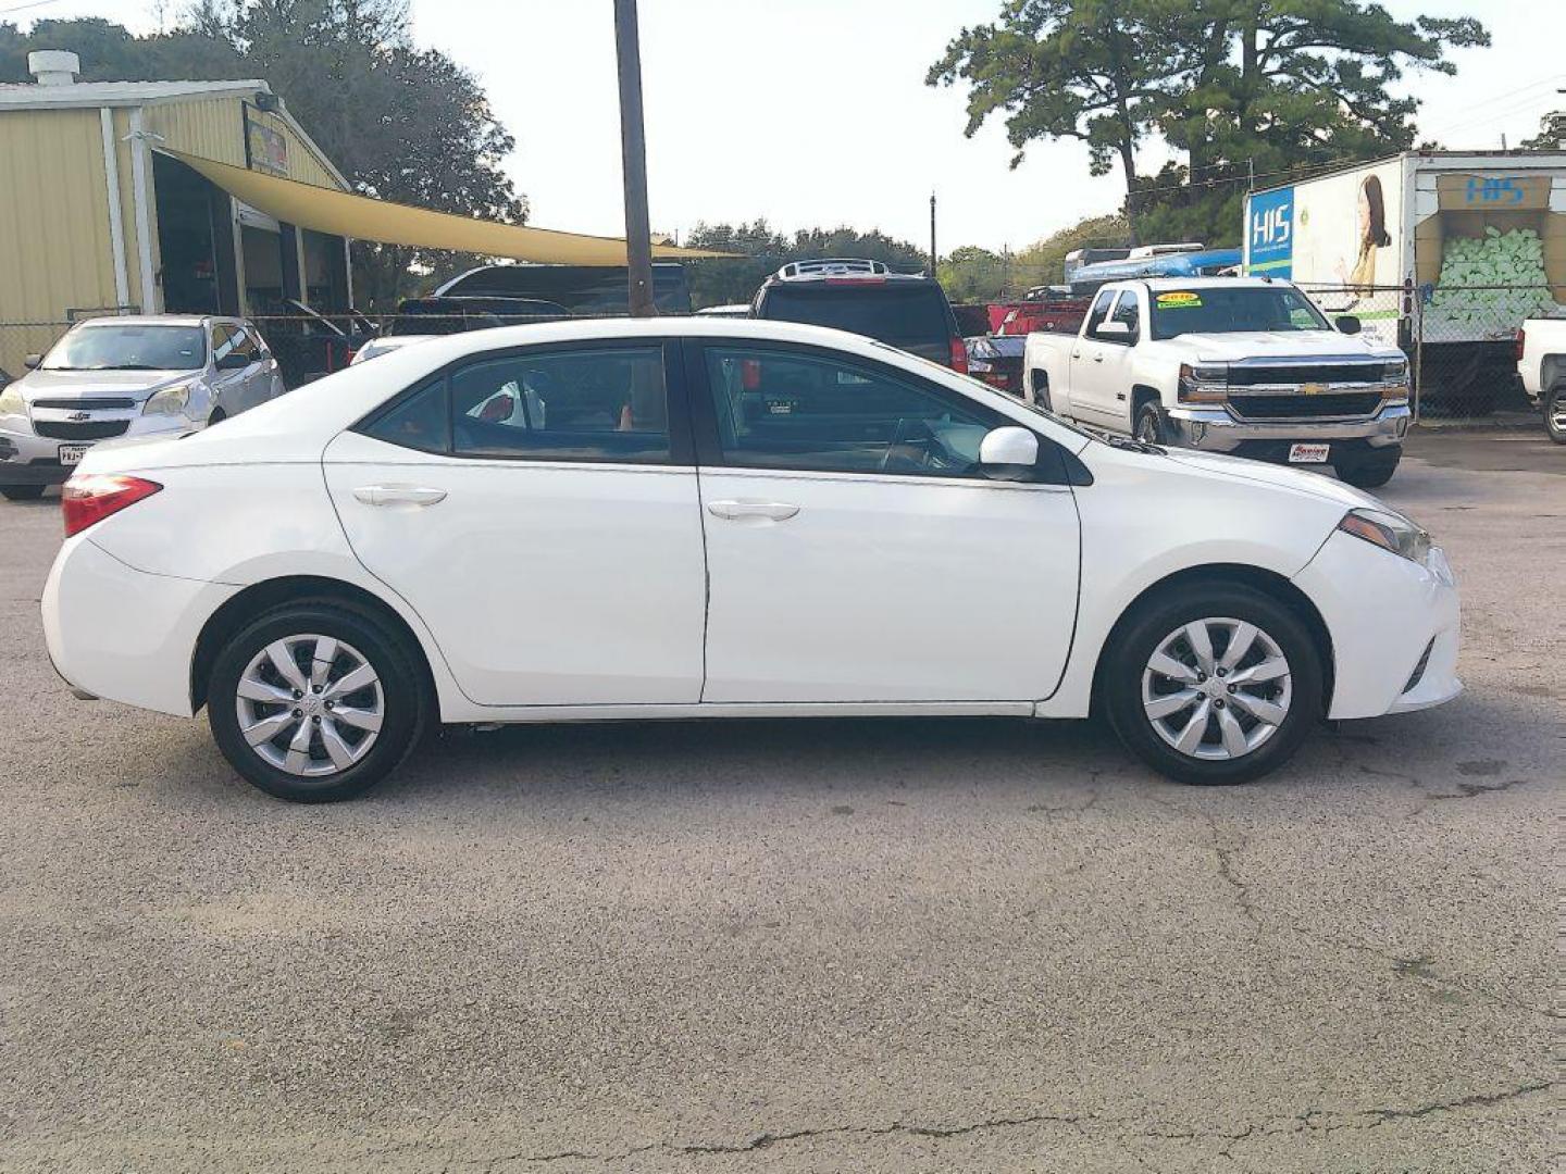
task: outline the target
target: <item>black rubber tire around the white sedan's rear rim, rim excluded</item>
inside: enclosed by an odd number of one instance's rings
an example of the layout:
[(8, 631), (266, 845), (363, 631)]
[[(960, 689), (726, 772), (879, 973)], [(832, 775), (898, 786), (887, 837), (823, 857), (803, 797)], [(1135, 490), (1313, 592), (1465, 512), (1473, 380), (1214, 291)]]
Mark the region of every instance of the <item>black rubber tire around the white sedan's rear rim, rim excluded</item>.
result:
[[(381, 686), (381, 728), (363, 758), (313, 778), (283, 770), (252, 750), (240, 729), (236, 704), (240, 678), (251, 661), (276, 640), (305, 634), (351, 646), (374, 670)], [(434, 698), (420, 651), (376, 615), (338, 600), (304, 600), (263, 614), (222, 646), (207, 686), (207, 720), (222, 756), (244, 780), (293, 803), (335, 803), (365, 794), (409, 756), (432, 712)], [(319, 725), (321, 718), (313, 720)], [(319, 733), (312, 739), (309, 753), (324, 754)]]

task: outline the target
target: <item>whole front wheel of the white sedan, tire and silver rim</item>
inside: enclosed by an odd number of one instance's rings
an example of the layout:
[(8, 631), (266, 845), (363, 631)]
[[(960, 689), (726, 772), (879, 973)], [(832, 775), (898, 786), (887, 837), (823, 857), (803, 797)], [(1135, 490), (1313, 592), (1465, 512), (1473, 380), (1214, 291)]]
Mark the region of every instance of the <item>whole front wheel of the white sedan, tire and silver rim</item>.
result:
[(1322, 717), (1322, 656), (1300, 617), (1245, 585), (1156, 596), (1109, 650), (1104, 706), (1143, 762), (1181, 783), (1248, 783)]

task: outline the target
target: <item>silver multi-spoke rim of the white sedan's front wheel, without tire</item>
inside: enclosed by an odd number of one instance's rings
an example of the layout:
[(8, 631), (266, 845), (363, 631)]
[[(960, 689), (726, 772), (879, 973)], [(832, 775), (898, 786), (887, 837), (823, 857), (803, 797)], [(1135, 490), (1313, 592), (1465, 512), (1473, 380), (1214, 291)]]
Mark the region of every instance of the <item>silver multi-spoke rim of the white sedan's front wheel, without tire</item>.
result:
[(1192, 620), (1154, 646), (1142, 670), (1153, 731), (1187, 758), (1256, 753), (1289, 717), (1294, 675), (1278, 642), (1232, 617)]

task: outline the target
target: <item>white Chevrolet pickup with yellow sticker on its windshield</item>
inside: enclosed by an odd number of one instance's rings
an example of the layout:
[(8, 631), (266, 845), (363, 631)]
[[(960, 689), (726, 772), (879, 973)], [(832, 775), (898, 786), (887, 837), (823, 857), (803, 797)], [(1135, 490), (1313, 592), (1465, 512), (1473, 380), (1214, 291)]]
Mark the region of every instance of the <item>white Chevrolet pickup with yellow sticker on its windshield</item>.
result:
[(1408, 434), (1408, 358), (1265, 277), (1102, 286), (1076, 335), (1030, 333), (1023, 394), (1137, 440), (1384, 485)]

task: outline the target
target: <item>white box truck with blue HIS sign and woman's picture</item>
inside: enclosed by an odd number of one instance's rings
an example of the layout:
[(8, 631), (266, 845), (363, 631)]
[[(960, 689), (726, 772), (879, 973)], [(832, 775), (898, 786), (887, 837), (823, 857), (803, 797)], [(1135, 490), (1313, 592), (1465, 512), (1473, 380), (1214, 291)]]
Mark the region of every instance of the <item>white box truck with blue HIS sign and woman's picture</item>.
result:
[(1417, 357), (1427, 401), (1494, 407), (1516, 329), (1566, 305), (1566, 152), (1405, 152), (1256, 191), (1243, 252)]

